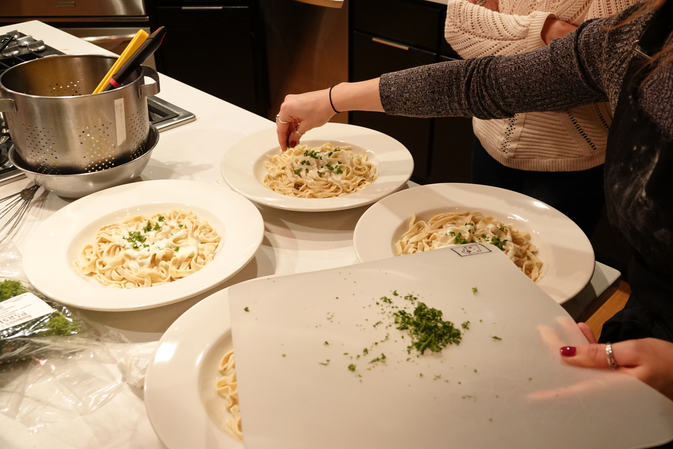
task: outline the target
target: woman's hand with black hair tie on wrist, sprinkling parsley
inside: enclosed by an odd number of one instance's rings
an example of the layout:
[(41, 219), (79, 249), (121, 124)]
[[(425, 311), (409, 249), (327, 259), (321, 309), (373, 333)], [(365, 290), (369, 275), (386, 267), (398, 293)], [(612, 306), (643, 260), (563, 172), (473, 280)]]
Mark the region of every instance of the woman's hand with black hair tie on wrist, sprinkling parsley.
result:
[(335, 109), (339, 112), (347, 110), (383, 112), (378, 83), (379, 79), (374, 78), (359, 83), (337, 84), (332, 88), (331, 103), (329, 89), (286, 96), (276, 117), (276, 131), (281, 149), (285, 151), (288, 147), (298, 145), (299, 139), (306, 131), (322, 127), (336, 114)]

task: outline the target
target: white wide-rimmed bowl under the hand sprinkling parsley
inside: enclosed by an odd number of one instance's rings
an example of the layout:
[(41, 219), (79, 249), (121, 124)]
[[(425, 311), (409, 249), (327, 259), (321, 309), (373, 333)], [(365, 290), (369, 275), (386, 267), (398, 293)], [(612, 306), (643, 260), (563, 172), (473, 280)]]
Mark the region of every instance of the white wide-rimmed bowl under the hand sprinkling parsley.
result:
[(409, 150), (392, 137), (354, 125), (326, 123), (308, 131), (301, 145), (319, 147), (323, 143), (351, 146), (376, 166), (378, 178), (371, 185), (349, 195), (333, 198), (297, 198), (277, 193), (264, 186), (267, 156), (281, 153), (275, 127), (250, 135), (227, 150), (222, 158), (221, 172), (234, 191), (244, 197), (277, 209), (291, 211), (338, 211), (351, 209), (387, 197), (398, 191), (411, 177), (414, 169)]

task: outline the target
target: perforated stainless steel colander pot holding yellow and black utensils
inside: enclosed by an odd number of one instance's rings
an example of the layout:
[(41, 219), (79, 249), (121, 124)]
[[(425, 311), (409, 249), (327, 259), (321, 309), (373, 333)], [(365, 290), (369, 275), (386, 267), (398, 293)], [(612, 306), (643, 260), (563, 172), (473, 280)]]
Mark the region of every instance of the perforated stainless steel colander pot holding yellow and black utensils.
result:
[[(122, 87), (91, 94), (114, 61), (104, 55), (54, 56), (0, 75), (0, 112), (26, 166), (43, 174), (97, 172), (143, 154), (147, 96), (159, 92), (159, 75), (142, 65)], [(145, 84), (145, 76), (156, 82)]]

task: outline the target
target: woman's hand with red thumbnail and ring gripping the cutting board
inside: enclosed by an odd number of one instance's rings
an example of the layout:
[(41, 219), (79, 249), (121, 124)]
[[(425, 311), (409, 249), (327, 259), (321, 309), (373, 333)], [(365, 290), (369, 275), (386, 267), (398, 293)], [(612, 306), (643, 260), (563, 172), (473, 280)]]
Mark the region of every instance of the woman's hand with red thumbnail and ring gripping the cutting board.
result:
[[(589, 326), (579, 329), (590, 341), (588, 345), (561, 348), (561, 358), (568, 364), (587, 368), (610, 368), (605, 345), (596, 343)], [(673, 400), (673, 343), (659, 339), (639, 339), (612, 343), (612, 356), (618, 368), (645, 382)]]

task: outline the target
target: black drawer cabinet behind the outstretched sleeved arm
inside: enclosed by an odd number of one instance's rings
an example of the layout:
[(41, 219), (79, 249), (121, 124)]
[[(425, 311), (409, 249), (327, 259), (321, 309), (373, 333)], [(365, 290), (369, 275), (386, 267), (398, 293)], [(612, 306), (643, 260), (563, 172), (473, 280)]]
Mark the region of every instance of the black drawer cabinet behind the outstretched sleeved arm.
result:
[[(351, 0), (349, 79), (457, 59), (444, 40), (446, 6), (425, 0)], [(353, 111), (349, 122), (386, 133), (414, 158), (415, 182), (469, 182), (472, 121)]]

